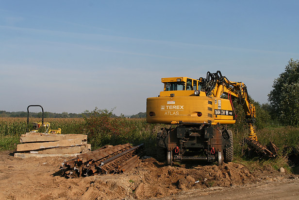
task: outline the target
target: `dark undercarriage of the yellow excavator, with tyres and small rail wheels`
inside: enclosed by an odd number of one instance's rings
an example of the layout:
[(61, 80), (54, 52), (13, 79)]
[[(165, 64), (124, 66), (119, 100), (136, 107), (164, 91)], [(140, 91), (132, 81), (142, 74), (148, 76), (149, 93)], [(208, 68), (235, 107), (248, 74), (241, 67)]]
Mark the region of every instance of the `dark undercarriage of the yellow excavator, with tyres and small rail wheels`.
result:
[(233, 133), (224, 127), (210, 124), (179, 125), (163, 128), (157, 134), (159, 160), (172, 165), (173, 161), (231, 162)]

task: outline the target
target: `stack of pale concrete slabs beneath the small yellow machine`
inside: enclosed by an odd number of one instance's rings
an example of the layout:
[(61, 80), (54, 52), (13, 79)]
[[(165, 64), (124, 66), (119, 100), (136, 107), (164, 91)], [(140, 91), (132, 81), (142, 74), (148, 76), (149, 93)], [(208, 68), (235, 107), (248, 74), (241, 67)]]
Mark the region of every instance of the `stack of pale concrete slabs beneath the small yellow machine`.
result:
[(22, 134), (15, 157), (77, 156), (90, 150), (87, 135), (29, 132)]

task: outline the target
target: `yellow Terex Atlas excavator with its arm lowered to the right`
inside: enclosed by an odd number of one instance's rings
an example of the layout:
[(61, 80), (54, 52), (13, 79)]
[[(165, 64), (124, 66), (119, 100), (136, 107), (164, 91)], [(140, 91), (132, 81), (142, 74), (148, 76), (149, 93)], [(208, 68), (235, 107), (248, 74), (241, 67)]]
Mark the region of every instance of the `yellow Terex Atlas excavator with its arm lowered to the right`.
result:
[(160, 95), (147, 98), (147, 121), (171, 125), (157, 133), (158, 160), (169, 165), (173, 161), (232, 162), (233, 132), (223, 125), (235, 123), (233, 98), (243, 106), (249, 126), (245, 142), (255, 151), (275, 156), (257, 141), (255, 107), (244, 83), (231, 82), (220, 71), (199, 79), (162, 78), (162, 83)]

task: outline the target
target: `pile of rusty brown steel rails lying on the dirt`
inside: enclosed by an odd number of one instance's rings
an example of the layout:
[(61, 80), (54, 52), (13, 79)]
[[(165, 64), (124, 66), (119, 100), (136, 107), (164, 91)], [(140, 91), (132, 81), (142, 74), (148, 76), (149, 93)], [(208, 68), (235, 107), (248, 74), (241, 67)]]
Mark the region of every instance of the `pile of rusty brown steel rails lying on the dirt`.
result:
[(66, 178), (91, 176), (94, 174), (115, 174), (129, 171), (137, 165), (143, 154), (143, 144), (132, 147), (106, 145), (69, 160), (61, 166), (61, 176)]

